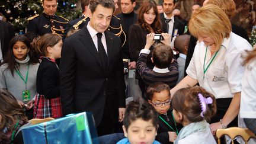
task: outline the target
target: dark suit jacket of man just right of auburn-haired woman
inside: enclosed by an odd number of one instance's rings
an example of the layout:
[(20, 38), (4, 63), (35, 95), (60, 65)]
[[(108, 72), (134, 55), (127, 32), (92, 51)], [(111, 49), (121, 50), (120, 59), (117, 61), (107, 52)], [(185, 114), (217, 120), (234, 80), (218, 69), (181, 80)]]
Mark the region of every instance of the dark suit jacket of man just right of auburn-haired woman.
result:
[[(165, 24), (164, 13), (159, 14), (159, 17), (162, 23), (163, 33), (168, 33), (168, 30)], [(178, 29), (178, 34), (181, 35), (184, 33), (184, 28), (185, 28), (185, 24), (181, 20), (179, 20), (177, 17), (174, 17), (174, 27), (172, 28), (172, 37), (175, 29)]]

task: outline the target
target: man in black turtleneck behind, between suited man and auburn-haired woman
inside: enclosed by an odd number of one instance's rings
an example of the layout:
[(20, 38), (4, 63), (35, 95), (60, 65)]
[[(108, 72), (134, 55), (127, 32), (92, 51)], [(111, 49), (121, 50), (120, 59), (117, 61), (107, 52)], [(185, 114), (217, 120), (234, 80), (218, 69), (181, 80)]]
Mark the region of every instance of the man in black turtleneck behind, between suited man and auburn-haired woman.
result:
[[(128, 62), (129, 59), (129, 37), (128, 31), (130, 25), (137, 23), (137, 14), (133, 11), (135, 8), (136, 2), (135, 0), (121, 0), (121, 10), (122, 12), (117, 15), (120, 18), (121, 25), (123, 25), (123, 31), (126, 34), (126, 41), (123, 46), (123, 61)], [(128, 64), (128, 63), (127, 63)], [(133, 63), (129, 63), (129, 65), (133, 65)], [(136, 63), (135, 63), (136, 64)], [(135, 66), (134, 64), (134, 66)], [(125, 65), (124, 65), (125, 68)], [(129, 66), (129, 69), (131, 67)], [(128, 72), (128, 69), (125, 69)]]

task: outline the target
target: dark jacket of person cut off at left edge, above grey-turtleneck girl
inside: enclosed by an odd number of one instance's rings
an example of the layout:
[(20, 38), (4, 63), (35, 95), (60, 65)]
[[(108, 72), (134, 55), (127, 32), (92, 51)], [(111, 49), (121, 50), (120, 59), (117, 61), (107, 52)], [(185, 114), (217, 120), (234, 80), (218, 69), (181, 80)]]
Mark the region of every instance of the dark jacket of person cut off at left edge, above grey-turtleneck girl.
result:
[(4, 57), (9, 48), (9, 42), (11, 41), (12, 37), (14, 37), (14, 28), (11, 24), (0, 20), (0, 31), (1, 49)]

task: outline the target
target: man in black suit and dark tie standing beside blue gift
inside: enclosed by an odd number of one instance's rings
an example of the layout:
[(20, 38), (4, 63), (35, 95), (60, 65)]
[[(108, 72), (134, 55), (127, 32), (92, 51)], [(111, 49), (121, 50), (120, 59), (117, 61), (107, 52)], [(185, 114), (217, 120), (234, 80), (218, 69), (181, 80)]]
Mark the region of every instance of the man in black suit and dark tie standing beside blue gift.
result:
[(60, 62), (63, 116), (92, 111), (98, 135), (115, 132), (125, 110), (120, 39), (107, 31), (113, 0), (91, 0), (87, 26), (68, 37)]

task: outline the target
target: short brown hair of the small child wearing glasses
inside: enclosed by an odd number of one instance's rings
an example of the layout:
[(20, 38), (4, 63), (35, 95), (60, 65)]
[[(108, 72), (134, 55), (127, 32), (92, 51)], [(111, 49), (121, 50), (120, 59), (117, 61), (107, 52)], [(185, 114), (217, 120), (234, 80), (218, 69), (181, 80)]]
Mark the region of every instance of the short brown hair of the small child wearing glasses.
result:
[[(164, 84), (163, 82), (155, 82), (146, 89), (146, 99), (152, 100), (153, 94), (155, 92), (159, 93), (161, 91), (170, 91), (170, 88), (167, 84)], [(171, 93), (169, 93), (171, 95)]]

